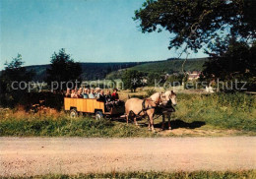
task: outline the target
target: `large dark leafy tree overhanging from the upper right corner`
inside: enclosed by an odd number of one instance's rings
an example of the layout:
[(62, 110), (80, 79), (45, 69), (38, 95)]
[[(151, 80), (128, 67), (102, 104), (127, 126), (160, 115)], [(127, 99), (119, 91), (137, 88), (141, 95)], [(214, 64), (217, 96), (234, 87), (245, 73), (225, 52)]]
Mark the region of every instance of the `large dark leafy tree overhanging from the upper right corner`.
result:
[(135, 11), (134, 20), (142, 32), (169, 31), (169, 49), (184, 47), (188, 56), (187, 49), (204, 48), (211, 56), (205, 64), (206, 78), (252, 82), (255, 8), (255, 0), (147, 0)]

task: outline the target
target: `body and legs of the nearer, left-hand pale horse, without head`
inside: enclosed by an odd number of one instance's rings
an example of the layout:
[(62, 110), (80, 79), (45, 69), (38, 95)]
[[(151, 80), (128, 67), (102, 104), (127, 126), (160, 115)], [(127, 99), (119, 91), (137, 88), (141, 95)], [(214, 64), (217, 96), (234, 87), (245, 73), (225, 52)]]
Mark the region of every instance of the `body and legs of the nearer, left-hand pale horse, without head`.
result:
[(148, 116), (149, 118), (149, 130), (154, 130), (154, 114), (155, 107), (157, 104), (150, 98), (139, 99), (139, 98), (130, 98), (125, 102), (125, 113), (126, 113), (126, 122), (128, 124), (129, 118), (134, 118), (135, 125), (138, 125), (136, 121), (137, 116)]

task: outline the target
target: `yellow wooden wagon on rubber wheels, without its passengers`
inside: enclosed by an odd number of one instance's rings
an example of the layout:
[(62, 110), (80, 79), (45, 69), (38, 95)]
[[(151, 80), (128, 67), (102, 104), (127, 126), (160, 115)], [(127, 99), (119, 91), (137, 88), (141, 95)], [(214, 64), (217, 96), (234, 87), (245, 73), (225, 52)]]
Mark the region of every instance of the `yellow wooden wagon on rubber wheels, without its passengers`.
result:
[(95, 114), (97, 120), (124, 114), (124, 105), (113, 105), (107, 110), (105, 103), (97, 101), (96, 98), (64, 97), (64, 109), (70, 111), (71, 117), (77, 117), (79, 113), (88, 113)]

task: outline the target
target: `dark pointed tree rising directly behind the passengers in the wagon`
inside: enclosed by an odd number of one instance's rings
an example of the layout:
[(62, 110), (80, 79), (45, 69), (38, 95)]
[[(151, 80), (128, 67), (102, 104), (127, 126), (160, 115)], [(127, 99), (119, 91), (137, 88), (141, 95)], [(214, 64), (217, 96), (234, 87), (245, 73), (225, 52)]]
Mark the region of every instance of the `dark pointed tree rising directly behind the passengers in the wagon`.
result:
[(75, 88), (75, 81), (79, 80), (82, 74), (80, 64), (74, 62), (70, 55), (66, 54), (64, 48), (61, 48), (59, 53), (54, 52), (50, 62), (50, 68), (46, 70), (48, 86), (54, 82), (54, 84), (58, 84), (58, 87), (54, 87), (54, 89), (62, 90), (63, 84), (72, 82), (73, 88)]

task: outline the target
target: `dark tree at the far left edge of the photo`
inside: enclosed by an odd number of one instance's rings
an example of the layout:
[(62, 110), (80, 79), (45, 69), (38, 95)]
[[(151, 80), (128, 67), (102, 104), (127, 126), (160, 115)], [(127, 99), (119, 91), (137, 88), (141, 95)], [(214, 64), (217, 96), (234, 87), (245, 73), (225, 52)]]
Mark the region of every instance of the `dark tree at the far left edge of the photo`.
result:
[[(22, 96), (27, 93), (28, 83), (32, 80), (33, 71), (27, 71), (22, 65), (22, 55), (18, 54), (16, 58), (8, 63), (0, 76), (0, 101), (1, 105), (14, 107), (20, 102)], [(23, 83), (21, 83), (23, 82)], [(20, 86), (19, 85), (23, 85)]]

